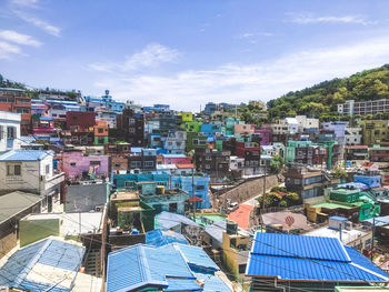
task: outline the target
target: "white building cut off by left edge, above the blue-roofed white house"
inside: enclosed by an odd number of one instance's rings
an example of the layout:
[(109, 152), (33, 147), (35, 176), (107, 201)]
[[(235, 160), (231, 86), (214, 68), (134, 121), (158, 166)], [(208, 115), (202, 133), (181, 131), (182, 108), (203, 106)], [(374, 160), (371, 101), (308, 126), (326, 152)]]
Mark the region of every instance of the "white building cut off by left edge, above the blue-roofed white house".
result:
[(20, 113), (0, 111), (0, 152), (20, 149)]

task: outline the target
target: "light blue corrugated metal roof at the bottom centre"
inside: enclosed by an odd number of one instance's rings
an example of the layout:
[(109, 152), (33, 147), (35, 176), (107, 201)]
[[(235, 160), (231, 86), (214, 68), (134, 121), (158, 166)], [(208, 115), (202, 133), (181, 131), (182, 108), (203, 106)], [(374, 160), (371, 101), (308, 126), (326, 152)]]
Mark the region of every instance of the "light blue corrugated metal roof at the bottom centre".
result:
[(198, 246), (137, 244), (108, 254), (106, 291), (232, 292), (215, 275), (218, 271), (218, 265)]

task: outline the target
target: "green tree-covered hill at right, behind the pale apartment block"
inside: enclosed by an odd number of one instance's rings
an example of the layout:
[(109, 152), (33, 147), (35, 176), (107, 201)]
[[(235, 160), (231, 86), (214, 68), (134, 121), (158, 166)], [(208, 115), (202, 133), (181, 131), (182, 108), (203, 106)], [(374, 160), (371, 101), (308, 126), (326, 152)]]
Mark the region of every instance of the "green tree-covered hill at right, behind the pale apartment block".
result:
[(338, 103), (350, 99), (366, 101), (387, 98), (389, 98), (389, 64), (289, 92), (279, 99), (270, 100), (268, 110), (269, 118), (272, 119), (307, 114), (321, 120), (336, 120), (341, 118), (337, 112)]

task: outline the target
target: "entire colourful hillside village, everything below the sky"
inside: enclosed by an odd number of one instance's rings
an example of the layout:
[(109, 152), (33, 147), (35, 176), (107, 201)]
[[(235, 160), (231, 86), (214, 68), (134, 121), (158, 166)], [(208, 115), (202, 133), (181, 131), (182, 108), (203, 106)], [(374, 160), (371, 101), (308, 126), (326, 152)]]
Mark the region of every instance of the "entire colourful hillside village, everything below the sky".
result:
[(200, 112), (0, 81), (0, 291), (388, 289), (389, 81)]

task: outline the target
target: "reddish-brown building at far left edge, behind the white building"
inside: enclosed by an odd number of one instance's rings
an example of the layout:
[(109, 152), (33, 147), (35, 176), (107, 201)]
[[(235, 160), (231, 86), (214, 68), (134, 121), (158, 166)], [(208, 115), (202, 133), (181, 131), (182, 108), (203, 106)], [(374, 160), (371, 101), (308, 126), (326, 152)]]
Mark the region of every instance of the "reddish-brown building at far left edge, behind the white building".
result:
[(21, 113), (21, 134), (31, 133), (31, 99), (26, 97), (24, 90), (0, 88), (0, 111)]

